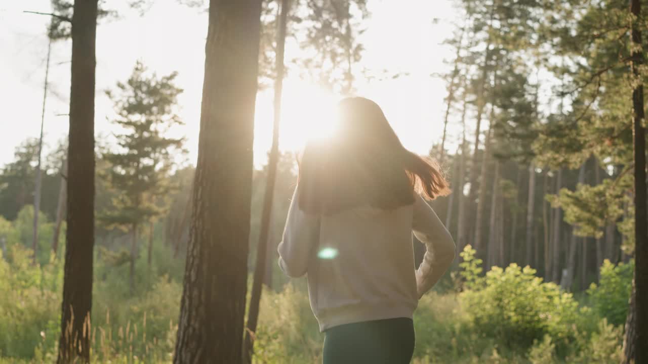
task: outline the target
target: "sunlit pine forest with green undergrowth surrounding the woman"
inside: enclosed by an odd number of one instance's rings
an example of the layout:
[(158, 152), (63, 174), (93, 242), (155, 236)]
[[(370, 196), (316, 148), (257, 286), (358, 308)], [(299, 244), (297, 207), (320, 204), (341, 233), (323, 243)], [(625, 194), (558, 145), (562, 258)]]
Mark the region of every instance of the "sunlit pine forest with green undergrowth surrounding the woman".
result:
[[(443, 23), (443, 42), (399, 40), (447, 54), (421, 66), (441, 92), (399, 115), (434, 130), (421, 148), (452, 194), (430, 205), (457, 246), (415, 311), (412, 363), (648, 363), (648, 7), (445, 2), (452, 19), (434, 6), (416, 16)], [(109, 77), (101, 28), (122, 11), (159, 16), (159, 3), (32, 3), (16, 9), (47, 23), (32, 95), (43, 109), (40, 136), (15, 134), (0, 160), (0, 364), (321, 363), (307, 281), (284, 275), (277, 245), (299, 159), (284, 142), (324, 132), (329, 114), (284, 122), (301, 100), (288, 80), (338, 100), (411, 77), (365, 63), (381, 45), (365, 32), (389, 1), (176, 0), (204, 20), (196, 120), (183, 118), (180, 72), (137, 60), (97, 87)], [(406, 23), (413, 3), (392, 5), (404, 11), (389, 21)], [(64, 68), (50, 51), (62, 45), (69, 124), (43, 141), (45, 102), (60, 97), (48, 77)], [(97, 129), (102, 103), (110, 132)], [(422, 133), (389, 115), (399, 136)], [(178, 131), (190, 123), (195, 139)], [(420, 264), (423, 245), (412, 249)]]

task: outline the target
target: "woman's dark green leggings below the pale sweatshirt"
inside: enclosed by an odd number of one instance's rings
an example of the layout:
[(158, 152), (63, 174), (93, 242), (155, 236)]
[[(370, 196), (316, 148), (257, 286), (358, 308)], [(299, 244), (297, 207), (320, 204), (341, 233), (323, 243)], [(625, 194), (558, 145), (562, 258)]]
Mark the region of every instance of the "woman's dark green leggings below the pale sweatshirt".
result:
[(413, 352), (411, 319), (365, 321), (326, 330), (323, 364), (408, 364)]

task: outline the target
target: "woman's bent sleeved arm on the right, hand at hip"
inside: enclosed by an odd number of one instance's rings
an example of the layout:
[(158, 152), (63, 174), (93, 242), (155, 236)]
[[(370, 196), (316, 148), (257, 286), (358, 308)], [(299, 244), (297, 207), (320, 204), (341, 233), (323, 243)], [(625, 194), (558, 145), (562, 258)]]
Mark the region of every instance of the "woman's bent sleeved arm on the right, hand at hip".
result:
[(414, 201), (412, 230), (417, 239), (426, 246), (421, 266), (416, 271), (419, 299), (434, 286), (452, 264), (455, 245), (443, 223), (421, 196)]

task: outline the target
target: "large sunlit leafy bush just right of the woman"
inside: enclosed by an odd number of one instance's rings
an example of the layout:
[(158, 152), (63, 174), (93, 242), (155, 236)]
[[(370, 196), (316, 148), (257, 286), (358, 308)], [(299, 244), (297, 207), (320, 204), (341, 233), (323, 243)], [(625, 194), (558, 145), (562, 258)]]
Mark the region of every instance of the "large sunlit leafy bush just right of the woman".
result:
[(534, 341), (550, 335), (557, 346), (572, 341), (578, 303), (553, 282), (543, 282), (535, 269), (511, 264), (492, 267), (481, 277), (479, 260), (468, 245), (461, 253), (469, 289), (461, 293), (465, 310), (477, 332), (507, 348), (526, 351)]

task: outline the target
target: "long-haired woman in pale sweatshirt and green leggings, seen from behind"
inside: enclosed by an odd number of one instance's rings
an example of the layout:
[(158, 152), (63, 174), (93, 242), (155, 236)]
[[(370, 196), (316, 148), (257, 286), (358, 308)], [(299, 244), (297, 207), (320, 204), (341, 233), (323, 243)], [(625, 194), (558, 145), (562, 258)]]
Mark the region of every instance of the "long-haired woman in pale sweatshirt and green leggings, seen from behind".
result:
[[(413, 312), (455, 256), (423, 198), (450, 190), (434, 163), (400, 144), (374, 102), (346, 98), (339, 108), (335, 137), (308, 142), (299, 163), (279, 266), (308, 275), (324, 364), (409, 363)], [(416, 270), (412, 231), (427, 247)]]

